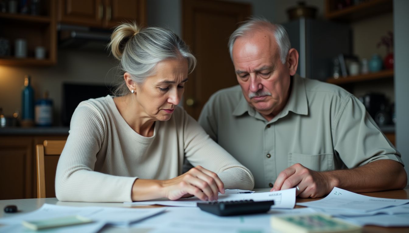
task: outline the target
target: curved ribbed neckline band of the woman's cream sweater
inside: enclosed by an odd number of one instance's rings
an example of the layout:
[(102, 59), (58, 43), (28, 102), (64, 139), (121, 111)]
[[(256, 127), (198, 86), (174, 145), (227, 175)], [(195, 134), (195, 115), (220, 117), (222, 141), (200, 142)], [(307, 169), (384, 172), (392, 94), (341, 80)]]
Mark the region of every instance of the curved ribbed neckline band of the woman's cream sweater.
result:
[(117, 123), (119, 123), (119, 126), (121, 127), (121, 129), (126, 131), (126, 133), (128, 135), (132, 135), (133, 138), (135, 138), (139, 142), (143, 142), (143, 143), (150, 143), (155, 139), (156, 134), (157, 134), (157, 129), (158, 129), (159, 124), (160, 124), (159, 121), (155, 121), (155, 125), (153, 126), (153, 135), (152, 135), (152, 137), (144, 137), (144, 136), (140, 135), (139, 133), (135, 132), (135, 130), (133, 130), (129, 126), (129, 124), (126, 123), (126, 121), (122, 117), (121, 113), (119, 113), (117, 105), (114, 102), (114, 98), (112, 98), (111, 95), (107, 95), (105, 97), (105, 99), (108, 102), (108, 106), (110, 107), (111, 112), (113, 113), (115, 120), (117, 121)]

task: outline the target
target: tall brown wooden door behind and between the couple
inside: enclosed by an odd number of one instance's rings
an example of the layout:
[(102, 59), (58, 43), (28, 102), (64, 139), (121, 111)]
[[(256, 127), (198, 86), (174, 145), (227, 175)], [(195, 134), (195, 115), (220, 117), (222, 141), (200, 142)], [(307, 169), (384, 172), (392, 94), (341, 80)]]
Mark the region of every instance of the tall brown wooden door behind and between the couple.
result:
[(182, 1), (183, 39), (198, 59), (186, 83), (184, 108), (196, 120), (211, 94), (238, 84), (227, 42), (239, 22), (246, 20), (251, 12), (250, 4)]

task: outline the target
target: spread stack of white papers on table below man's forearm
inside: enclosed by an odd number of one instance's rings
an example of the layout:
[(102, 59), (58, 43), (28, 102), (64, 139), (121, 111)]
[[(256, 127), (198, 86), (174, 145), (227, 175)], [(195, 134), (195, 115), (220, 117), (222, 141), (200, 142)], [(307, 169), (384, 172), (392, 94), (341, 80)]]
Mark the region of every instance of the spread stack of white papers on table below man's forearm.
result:
[(409, 226), (409, 200), (368, 197), (335, 187), (321, 200), (297, 203), (359, 225)]

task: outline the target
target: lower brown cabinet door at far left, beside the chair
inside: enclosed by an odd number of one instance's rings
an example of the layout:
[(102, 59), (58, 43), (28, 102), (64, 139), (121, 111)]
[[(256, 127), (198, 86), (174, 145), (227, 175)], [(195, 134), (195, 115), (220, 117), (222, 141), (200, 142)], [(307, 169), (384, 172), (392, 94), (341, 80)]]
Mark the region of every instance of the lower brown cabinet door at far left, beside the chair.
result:
[(0, 200), (32, 198), (30, 137), (0, 137)]

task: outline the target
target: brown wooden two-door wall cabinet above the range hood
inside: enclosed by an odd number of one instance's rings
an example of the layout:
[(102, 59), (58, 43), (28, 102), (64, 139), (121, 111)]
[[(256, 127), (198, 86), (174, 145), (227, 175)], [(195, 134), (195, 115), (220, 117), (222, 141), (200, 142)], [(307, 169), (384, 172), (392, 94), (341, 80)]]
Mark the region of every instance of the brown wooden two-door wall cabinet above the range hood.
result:
[(59, 0), (58, 22), (112, 28), (120, 22), (146, 23), (146, 0)]

